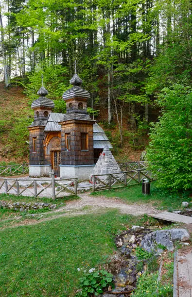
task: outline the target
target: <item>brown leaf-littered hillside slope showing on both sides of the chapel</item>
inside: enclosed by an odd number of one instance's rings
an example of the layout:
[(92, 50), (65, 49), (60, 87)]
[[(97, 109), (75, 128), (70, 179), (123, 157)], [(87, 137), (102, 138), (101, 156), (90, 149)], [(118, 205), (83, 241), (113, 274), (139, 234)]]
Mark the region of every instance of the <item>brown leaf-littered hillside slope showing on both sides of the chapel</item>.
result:
[[(29, 99), (24, 95), (20, 86), (4, 88), (4, 83), (0, 83), (0, 163), (2, 162), (28, 162), (29, 146), (26, 141), (29, 138), (27, 126), (33, 121), (33, 111), (31, 110)], [(120, 146), (120, 136), (116, 116), (113, 117), (111, 127), (107, 124), (107, 109), (101, 108), (100, 115), (96, 120), (104, 128), (109, 140), (113, 144), (113, 154), (116, 159), (139, 160), (140, 154), (147, 143), (147, 137), (139, 134), (133, 135), (129, 131), (128, 117), (123, 117), (124, 141)], [(133, 137), (135, 142), (140, 138), (140, 145), (133, 148)]]

